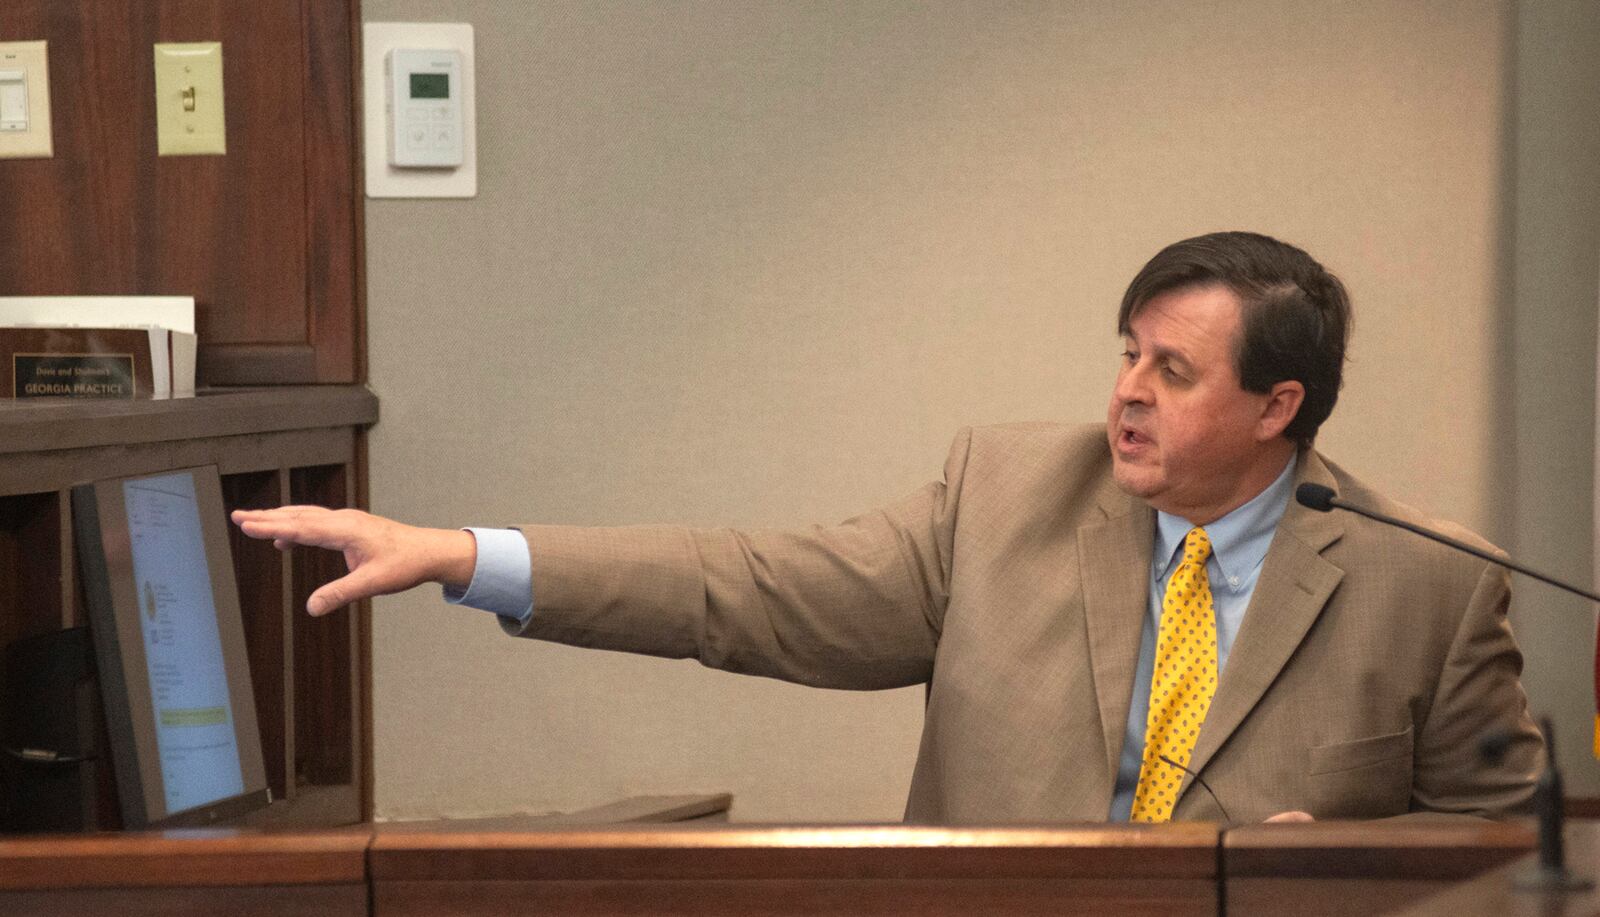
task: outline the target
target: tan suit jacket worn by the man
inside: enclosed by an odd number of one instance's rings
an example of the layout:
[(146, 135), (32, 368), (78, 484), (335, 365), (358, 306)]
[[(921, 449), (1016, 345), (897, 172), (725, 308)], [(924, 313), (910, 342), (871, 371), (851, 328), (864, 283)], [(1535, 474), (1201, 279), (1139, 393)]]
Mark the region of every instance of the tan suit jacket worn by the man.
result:
[[(1314, 451), (1296, 479), (1429, 523)], [(525, 635), (830, 688), (931, 682), (907, 819), (1104, 821), (1154, 530), (1102, 427), (981, 427), (942, 483), (837, 527), (528, 527)], [(1190, 767), (1235, 821), (1523, 807), (1541, 743), (1507, 602), (1498, 567), (1291, 504)], [(1498, 768), (1477, 752), (1494, 730), (1515, 736)], [(1190, 784), (1176, 818), (1222, 821)]]

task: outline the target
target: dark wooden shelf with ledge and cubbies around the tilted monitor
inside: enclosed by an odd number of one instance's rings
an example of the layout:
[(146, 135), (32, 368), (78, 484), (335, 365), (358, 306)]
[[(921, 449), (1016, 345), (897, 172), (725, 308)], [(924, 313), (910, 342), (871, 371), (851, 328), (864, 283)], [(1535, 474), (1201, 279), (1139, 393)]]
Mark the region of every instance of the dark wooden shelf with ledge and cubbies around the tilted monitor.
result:
[[(141, 402), (0, 402), (0, 648), (86, 623), (75, 583), (72, 487), (214, 464), (229, 511), (286, 503), (365, 506), (362, 386), (213, 389)], [(310, 591), (342, 573), (333, 552), (282, 554), (232, 538), (267, 781), (258, 824), (331, 826), (371, 811), (365, 603), (312, 619)], [(0, 666), (3, 666), (0, 656)], [(0, 669), (0, 711), (6, 696)], [(0, 744), (5, 743), (0, 719)], [(96, 768), (88, 824), (117, 827), (110, 768)]]

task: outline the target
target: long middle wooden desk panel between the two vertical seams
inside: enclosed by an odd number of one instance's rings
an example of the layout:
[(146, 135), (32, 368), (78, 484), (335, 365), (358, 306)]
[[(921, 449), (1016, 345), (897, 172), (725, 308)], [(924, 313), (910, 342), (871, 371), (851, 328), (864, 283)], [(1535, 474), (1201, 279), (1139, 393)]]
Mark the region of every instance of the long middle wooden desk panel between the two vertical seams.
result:
[(373, 839), (373, 912), (1214, 914), (1218, 831), (611, 827)]

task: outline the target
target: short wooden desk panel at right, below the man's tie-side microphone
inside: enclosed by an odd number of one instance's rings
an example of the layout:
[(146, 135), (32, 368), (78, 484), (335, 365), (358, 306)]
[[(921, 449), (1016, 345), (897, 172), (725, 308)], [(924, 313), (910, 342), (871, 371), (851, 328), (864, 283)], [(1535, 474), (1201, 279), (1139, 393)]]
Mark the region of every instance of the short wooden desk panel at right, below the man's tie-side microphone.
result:
[(1232, 915), (1366, 917), (1405, 907), (1533, 847), (1533, 832), (1496, 823), (1254, 824), (1222, 837)]

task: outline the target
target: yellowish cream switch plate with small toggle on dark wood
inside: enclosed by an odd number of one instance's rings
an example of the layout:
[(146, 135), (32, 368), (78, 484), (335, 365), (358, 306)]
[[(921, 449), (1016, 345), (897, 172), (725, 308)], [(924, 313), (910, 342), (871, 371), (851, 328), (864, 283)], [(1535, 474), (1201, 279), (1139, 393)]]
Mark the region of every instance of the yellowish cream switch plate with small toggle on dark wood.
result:
[(155, 152), (227, 154), (221, 42), (155, 46)]

